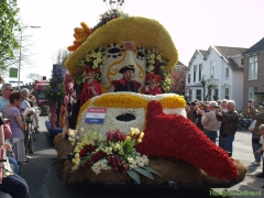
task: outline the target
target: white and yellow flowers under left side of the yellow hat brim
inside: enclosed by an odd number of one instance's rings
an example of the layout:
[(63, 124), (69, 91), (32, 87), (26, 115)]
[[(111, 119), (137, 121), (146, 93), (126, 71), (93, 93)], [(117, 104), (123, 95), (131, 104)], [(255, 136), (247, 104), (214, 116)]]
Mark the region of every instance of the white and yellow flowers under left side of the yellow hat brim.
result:
[[(89, 52), (84, 59), (75, 67), (75, 70), (72, 73), (72, 77), (77, 84), (86, 82), (88, 80), (87, 73), (88, 69), (102, 69), (106, 62), (106, 48), (98, 47)], [(101, 73), (97, 74), (96, 79), (101, 80)]]

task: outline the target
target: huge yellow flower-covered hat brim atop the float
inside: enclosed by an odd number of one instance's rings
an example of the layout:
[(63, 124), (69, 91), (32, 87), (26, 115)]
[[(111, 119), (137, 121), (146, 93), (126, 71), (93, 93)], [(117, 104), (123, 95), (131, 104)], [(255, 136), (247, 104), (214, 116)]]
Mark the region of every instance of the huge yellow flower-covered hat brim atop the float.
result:
[(162, 24), (141, 16), (120, 16), (94, 31), (65, 62), (67, 69), (72, 74), (76, 66), (85, 59), (87, 52), (118, 41), (133, 41), (145, 48), (155, 46), (163, 58), (168, 61), (166, 70), (170, 70), (178, 61), (178, 53), (173, 40)]

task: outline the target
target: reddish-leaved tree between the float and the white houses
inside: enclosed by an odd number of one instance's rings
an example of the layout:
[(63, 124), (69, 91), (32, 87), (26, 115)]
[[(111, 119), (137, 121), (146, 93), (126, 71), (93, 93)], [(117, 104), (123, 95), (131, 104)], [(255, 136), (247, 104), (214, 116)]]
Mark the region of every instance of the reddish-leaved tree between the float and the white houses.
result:
[(170, 75), (173, 79), (172, 90), (178, 95), (185, 95), (185, 80), (186, 74), (185, 69), (174, 70)]

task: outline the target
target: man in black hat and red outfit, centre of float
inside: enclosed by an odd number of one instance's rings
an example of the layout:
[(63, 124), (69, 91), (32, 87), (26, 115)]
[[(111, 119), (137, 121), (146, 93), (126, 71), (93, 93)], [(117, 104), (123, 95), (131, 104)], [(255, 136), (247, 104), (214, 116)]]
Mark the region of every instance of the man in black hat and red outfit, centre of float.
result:
[(134, 77), (134, 65), (128, 65), (122, 67), (119, 73), (123, 75), (123, 78), (120, 80), (113, 80), (114, 92), (119, 91), (131, 91), (138, 92), (138, 89), (141, 87), (141, 84), (133, 80)]

